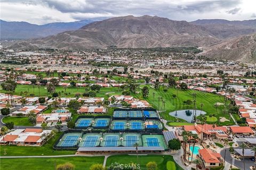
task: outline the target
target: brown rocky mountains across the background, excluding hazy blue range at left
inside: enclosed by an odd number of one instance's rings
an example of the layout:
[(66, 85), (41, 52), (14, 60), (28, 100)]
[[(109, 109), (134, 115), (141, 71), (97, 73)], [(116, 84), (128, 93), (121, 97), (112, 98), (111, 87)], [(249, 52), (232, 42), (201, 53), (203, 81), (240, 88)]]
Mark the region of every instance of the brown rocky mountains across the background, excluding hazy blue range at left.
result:
[[(91, 22), (77, 30), (57, 35), (15, 41), (8, 47), (85, 49), (111, 45), (119, 48), (199, 46), (203, 47), (206, 56), (255, 62), (255, 56), (250, 55), (254, 54), (256, 47), (255, 32), (256, 20), (187, 22), (158, 16), (129, 15)], [(246, 49), (245, 53), (247, 43), (250, 43), (250, 49)], [(244, 53), (240, 53), (241, 50)]]

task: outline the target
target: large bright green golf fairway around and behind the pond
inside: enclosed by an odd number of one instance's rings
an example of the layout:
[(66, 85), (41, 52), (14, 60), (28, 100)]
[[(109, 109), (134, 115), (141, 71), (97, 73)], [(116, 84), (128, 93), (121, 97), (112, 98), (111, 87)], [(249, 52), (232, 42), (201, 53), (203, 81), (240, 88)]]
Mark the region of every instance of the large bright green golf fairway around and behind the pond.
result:
[[(177, 92), (178, 91), (178, 92)], [(185, 100), (192, 100), (193, 101), (193, 93), (196, 94), (196, 106), (197, 109), (201, 109), (201, 103), (203, 104), (202, 110), (206, 112), (206, 115), (214, 114), (215, 117), (219, 120), (219, 117), (226, 117), (229, 119), (228, 114), (223, 114), (223, 108), (224, 106), (218, 106), (217, 109), (215, 109), (214, 104), (215, 103), (224, 103), (224, 97), (205, 93), (201, 91), (196, 90), (180, 90), (175, 88), (169, 88), (167, 92), (163, 91), (163, 88), (159, 89), (153, 89), (149, 88), (149, 95), (147, 98), (143, 98), (142, 94), (135, 94), (132, 95), (134, 97), (145, 99), (147, 100), (154, 108), (158, 109), (158, 97), (162, 97), (165, 101), (165, 108), (163, 107), (161, 99), (159, 100), (159, 111), (165, 111), (160, 112), (160, 115), (163, 116), (165, 120), (169, 121), (177, 121), (177, 118), (170, 116), (169, 113), (173, 112), (175, 110), (182, 110), (182, 109), (193, 109), (193, 105), (185, 105), (183, 104), (183, 101)], [(155, 95), (153, 95), (155, 94)], [(175, 94), (177, 97), (173, 98), (172, 95)], [(215, 123), (215, 122), (207, 122), (207, 123)], [(217, 124), (226, 125), (226, 124), (234, 124), (233, 120), (226, 121), (226, 122), (219, 122), (217, 121)]]

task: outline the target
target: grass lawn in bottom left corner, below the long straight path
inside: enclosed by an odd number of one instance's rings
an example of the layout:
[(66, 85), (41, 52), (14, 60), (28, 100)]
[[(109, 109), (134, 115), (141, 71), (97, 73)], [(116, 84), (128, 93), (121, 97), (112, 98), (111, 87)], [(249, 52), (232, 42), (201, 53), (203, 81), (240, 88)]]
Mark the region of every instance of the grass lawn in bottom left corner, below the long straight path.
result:
[(5, 158), (1, 159), (1, 170), (54, 169), (54, 165), (71, 163), (75, 169), (89, 169), (93, 164), (103, 164), (104, 157), (60, 157), (60, 158)]

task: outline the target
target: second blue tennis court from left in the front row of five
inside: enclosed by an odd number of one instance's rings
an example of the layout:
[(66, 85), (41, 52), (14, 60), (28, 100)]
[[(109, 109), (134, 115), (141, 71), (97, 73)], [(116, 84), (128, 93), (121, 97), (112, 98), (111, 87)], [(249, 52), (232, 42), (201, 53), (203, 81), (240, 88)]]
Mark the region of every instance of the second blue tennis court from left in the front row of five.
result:
[(97, 147), (100, 145), (102, 133), (85, 133), (79, 147)]

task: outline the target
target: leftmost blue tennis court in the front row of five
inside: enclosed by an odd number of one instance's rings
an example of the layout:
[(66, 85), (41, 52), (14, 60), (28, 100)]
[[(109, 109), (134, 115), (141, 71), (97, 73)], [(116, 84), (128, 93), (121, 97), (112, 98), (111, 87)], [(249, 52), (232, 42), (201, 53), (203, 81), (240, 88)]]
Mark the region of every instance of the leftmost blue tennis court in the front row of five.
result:
[(57, 146), (60, 147), (73, 147), (78, 143), (79, 138), (82, 137), (82, 133), (66, 133), (60, 139)]

